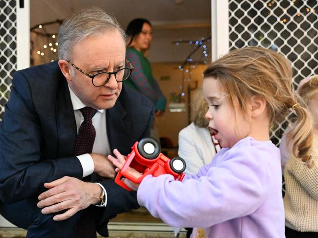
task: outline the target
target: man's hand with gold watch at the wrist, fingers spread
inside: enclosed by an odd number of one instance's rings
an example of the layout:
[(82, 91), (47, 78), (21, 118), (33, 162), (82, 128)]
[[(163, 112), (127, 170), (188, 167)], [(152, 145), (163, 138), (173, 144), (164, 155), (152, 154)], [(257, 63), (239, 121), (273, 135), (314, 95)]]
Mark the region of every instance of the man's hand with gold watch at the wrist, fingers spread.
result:
[(101, 187), (95, 183), (83, 182), (77, 178), (64, 176), (50, 183), (45, 183), (48, 191), (39, 195), (37, 206), (43, 214), (67, 210), (53, 217), (53, 220), (65, 220), (91, 204), (99, 202)]

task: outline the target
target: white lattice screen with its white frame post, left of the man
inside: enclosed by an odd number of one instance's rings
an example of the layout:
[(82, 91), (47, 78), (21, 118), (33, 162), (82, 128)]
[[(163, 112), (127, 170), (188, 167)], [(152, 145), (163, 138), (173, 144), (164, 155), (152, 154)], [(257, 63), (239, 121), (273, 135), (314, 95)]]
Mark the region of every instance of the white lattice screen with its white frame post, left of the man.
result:
[(30, 65), (29, 0), (0, 0), (0, 122), (13, 73)]

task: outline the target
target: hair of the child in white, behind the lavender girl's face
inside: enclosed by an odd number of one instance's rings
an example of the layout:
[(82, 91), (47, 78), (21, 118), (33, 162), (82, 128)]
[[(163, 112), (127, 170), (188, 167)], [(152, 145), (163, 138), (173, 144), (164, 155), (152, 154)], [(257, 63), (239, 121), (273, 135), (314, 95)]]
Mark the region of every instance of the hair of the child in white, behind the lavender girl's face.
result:
[(191, 103), (191, 120), (199, 128), (207, 128), (209, 125), (209, 120), (204, 117), (208, 106), (204, 99), (202, 87), (197, 88)]

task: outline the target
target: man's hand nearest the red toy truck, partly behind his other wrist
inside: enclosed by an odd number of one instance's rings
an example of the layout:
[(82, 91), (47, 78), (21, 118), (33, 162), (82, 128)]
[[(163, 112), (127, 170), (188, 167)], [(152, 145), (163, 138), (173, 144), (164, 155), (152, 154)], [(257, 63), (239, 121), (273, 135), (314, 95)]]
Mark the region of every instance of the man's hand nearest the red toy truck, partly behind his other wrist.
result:
[(105, 155), (90, 153), (94, 161), (94, 172), (101, 177), (114, 178), (115, 168)]

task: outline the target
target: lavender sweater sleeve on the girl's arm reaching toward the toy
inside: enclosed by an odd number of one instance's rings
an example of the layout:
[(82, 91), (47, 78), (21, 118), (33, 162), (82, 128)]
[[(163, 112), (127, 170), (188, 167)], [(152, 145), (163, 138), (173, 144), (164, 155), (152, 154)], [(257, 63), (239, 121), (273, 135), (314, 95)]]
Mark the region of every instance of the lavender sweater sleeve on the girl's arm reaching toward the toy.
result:
[(208, 227), (255, 212), (272, 182), (269, 165), (246, 155), (246, 149), (199, 173), (182, 182), (169, 174), (148, 175), (139, 186), (138, 202), (171, 226)]

